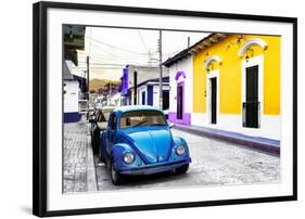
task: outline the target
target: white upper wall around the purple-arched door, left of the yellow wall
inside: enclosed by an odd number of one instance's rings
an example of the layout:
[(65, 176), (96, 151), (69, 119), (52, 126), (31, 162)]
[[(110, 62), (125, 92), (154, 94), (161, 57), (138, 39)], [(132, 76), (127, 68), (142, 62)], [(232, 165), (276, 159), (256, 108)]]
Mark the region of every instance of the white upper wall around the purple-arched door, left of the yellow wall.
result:
[[(185, 113), (193, 112), (193, 59), (188, 56), (169, 67), (169, 112), (177, 111), (177, 81), (175, 76), (177, 72), (183, 70), (186, 73), (185, 79)], [(179, 81), (183, 80), (180, 76)]]

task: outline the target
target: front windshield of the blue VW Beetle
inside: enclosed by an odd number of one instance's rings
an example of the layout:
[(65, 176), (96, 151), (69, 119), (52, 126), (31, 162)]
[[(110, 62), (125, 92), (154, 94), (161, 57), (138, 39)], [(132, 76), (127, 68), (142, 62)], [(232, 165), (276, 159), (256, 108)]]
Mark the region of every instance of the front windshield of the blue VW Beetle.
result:
[(139, 126), (165, 126), (163, 113), (158, 111), (131, 111), (120, 116), (120, 129), (135, 128)]

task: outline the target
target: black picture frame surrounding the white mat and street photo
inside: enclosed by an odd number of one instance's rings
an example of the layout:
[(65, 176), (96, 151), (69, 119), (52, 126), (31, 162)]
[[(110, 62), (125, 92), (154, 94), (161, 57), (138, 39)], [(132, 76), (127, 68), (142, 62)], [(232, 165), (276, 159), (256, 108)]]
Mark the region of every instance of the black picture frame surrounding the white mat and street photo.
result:
[[(193, 17), (228, 18), (244, 21), (280, 22), (293, 25), (293, 194), (259, 198), (223, 199), (208, 202), (168, 203), (141, 206), (101, 207), (49, 211), (47, 209), (47, 10), (87, 10), (131, 12), (141, 14), (179, 15)], [(33, 214), (39, 217), (100, 214), (131, 210), (186, 208), (247, 203), (267, 203), (297, 199), (297, 18), (260, 16), (232, 13), (147, 9), (97, 5), (82, 3), (38, 2), (33, 5)]]

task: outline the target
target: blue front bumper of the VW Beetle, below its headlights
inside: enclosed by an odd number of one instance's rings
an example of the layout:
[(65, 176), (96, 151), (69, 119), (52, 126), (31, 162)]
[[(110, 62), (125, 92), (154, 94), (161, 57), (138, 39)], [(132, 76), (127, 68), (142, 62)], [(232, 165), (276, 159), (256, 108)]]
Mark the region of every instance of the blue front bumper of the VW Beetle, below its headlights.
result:
[(188, 157), (176, 162), (158, 163), (152, 165), (144, 165), (140, 167), (132, 167), (132, 168), (123, 167), (119, 169), (118, 172), (120, 175), (152, 175), (152, 173), (174, 170), (178, 167), (181, 167), (190, 163), (191, 163), (191, 157)]

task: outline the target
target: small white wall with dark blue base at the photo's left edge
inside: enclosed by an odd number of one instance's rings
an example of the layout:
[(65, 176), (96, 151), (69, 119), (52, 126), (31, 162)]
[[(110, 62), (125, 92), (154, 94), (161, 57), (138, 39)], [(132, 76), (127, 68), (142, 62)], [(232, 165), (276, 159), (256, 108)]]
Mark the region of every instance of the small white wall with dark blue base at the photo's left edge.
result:
[(78, 81), (77, 80), (65, 80), (64, 81), (64, 113), (78, 112)]

